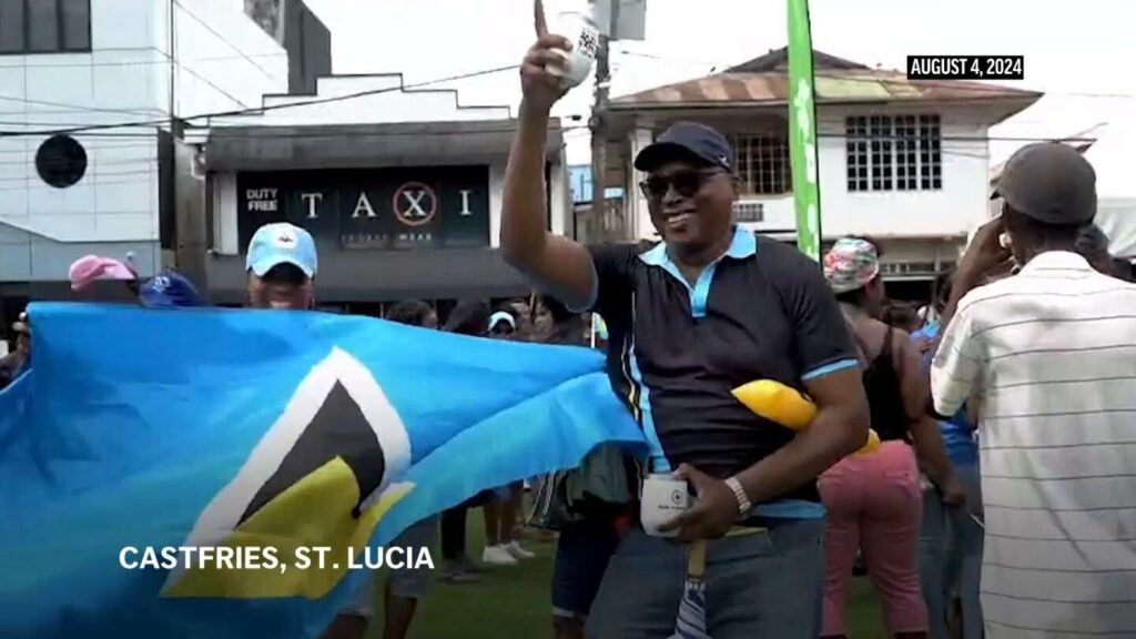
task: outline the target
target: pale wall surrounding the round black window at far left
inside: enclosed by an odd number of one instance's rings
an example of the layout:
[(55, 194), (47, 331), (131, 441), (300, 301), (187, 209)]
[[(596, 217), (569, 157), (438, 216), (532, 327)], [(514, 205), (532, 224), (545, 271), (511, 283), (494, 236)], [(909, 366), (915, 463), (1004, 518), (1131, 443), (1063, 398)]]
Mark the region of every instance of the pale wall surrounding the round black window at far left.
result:
[[(181, 117), (256, 107), (262, 93), (287, 90), (287, 56), (243, 0), (173, 6), (170, 23), (169, 0), (92, 0), (91, 52), (0, 56), (0, 96), (11, 98), (0, 100), (0, 119), (24, 123), (2, 128), (28, 133), (0, 138), (0, 281), (58, 279), (70, 256), (124, 247), (150, 274), (161, 263), (156, 127), (169, 117), (172, 81)], [(125, 123), (148, 125), (74, 134), (87, 155), (75, 185), (40, 179), (47, 132)]]

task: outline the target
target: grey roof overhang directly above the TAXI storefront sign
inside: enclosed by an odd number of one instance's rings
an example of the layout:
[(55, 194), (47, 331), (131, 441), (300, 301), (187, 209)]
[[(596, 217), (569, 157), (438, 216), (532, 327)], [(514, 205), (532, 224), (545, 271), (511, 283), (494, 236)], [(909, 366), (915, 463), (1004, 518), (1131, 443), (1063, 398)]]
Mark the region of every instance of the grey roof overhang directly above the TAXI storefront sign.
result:
[[(283, 171), (488, 160), (509, 155), (516, 131), (516, 119), (215, 127), (203, 142), (204, 168)], [(562, 148), (563, 130), (553, 121), (545, 153), (556, 160)]]

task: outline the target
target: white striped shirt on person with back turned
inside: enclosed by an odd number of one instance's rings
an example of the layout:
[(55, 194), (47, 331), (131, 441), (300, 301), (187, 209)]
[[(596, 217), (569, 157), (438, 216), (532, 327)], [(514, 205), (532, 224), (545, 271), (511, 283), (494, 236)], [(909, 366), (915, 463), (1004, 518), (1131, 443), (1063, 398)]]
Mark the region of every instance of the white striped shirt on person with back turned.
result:
[(962, 299), (932, 392), (979, 407), (987, 637), (1136, 638), (1136, 285), (1035, 257)]

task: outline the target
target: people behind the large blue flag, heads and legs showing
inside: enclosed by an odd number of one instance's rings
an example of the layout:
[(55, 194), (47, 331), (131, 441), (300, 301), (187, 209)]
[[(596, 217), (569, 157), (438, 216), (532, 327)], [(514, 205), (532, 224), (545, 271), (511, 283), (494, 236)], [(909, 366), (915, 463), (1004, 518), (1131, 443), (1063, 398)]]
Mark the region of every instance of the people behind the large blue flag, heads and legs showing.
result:
[[(312, 310), (316, 299), (318, 254), (308, 231), (287, 223), (260, 227), (248, 246), (247, 306), (257, 309)], [(130, 259), (85, 256), (69, 268), (72, 299), (101, 304), (136, 304), (143, 308), (200, 307), (202, 297), (193, 283), (173, 269), (143, 281)], [(494, 308), (487, 300), (459, 302), (440, 323), (433, 306), (409, 299), (392, 304), (385, 320), (446, 332), (502, 340), (541, 341), (583, 346), (585, 324), (554, 299), (533, 294)], [(15, 349), (0, 362), (7, 372), (3, 385), (18, 379), (32, 365), (32, 329), (26, 313), (12, 325)], [(441, 542), (441, 580), (477, 583), (482, 565), (515, 566), (535, 554), (520, 545), (525, 525), (521, 503), (524, 482), (486, 490), (407, 529), (395, 541), (399, 547), (433, 547)], [(467, 553), (467, 512), (484, 514), (485, 547), (481, 563)], [(426, 567), (394, 571), (384, 583), (384, 637), (404, 639), (417, 603), (434, 578)], [(327, 630), (327, 639), (361, 639), (374, 616), (374, 580), (367, 580), (353, 600)]]

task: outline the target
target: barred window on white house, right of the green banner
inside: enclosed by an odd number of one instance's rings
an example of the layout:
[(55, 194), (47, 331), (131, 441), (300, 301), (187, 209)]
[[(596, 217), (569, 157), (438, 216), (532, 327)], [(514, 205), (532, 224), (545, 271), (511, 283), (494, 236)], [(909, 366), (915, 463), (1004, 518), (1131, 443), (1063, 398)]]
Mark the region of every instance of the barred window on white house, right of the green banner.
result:
[(937, 115), (850, 116), (844, 127), (849, 191), (943, 188)]

